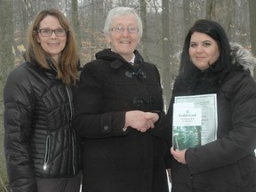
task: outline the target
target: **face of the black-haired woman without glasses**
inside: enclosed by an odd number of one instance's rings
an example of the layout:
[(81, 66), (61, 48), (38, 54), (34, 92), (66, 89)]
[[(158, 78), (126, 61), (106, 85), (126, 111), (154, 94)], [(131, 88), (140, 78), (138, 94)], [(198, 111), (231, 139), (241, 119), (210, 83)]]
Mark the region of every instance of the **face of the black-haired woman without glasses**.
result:
[(217, 42), (211, 36), (199, 32), (192, 34), (188, 52), (192, 62), (200, 70), (209, 68), (220, 55)]

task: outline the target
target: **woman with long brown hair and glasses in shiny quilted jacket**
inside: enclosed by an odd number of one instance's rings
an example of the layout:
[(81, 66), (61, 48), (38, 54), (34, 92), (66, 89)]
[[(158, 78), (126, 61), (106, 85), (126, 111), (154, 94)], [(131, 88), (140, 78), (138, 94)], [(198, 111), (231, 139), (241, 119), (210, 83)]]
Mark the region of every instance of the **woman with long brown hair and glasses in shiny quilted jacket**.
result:
[(4, 87), (4, 148), (12, 192), (78, 192), (80, 141), (71, 126), (78, 79), (75, 34), (57, 10), (28, 28), (25, 63)]

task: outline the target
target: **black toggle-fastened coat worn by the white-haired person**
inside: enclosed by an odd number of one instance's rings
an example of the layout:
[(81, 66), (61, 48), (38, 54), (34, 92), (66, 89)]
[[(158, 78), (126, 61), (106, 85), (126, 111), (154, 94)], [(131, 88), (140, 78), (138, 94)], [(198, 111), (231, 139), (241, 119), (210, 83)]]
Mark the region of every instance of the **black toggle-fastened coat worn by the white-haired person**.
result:
[(162, 127), (146, 133), (123, 131), (128, 110), (163, 113), (158, 70), (134, 53), (138, 68), (103, 50), (82, 70), (74, 127), (84, 138), (83, 191), (168, 191)]

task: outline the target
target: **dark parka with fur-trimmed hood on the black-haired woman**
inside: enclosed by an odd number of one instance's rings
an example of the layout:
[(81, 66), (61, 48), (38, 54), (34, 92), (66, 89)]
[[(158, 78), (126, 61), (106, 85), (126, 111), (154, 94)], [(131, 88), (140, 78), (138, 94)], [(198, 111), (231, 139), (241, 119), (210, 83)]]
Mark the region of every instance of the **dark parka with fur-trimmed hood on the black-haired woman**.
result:
[[(241, 49), (233, 46), (238, 65), (228, 72), (216, 92), (218, 139), (188, 148), (187, 165), (172, 159), (172, 192), (256, 191), (256, 84), (246, 69), (255, 66), (256, 60)], [(180, 95), (179, 84), (174, 86), (172, 103)], [(171, 122), (172, 103), (167, 122)]]

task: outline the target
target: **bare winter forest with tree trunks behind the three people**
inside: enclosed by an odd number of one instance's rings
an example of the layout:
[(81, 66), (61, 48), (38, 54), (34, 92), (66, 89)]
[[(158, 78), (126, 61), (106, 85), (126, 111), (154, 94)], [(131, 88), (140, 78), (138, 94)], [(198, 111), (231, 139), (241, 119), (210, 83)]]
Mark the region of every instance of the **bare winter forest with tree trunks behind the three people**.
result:
[(0, 192), (9, 191), (4, 162), (4, 84), (13, 68), (24, 61), (31, 20), (42, 9), (63, 12), (75, 29), (80, 59), (85, 64), (108, 47), (102, 29), (108, 11), (116, 6), (130, 6), (140, 14), (143, 36), (138, 49), (160, 71), (165, 110), (179, 70), (179, 52), (196, 20), (220, 22), (231, 42), (256, 55), (255, 0), (0, 0)]

